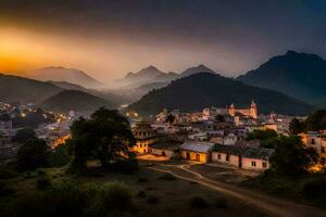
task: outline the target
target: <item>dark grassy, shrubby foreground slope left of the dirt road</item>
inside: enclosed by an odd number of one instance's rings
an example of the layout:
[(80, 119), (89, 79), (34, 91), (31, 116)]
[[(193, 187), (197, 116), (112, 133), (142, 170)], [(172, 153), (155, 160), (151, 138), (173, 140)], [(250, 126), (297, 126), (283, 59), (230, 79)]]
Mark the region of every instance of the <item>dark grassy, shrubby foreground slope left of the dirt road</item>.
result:
[(133, 175), (88, 164), (88, 176), (47, 168), (3, 177), (1, 216), (263, 216), (223, 194), (148, 167)]

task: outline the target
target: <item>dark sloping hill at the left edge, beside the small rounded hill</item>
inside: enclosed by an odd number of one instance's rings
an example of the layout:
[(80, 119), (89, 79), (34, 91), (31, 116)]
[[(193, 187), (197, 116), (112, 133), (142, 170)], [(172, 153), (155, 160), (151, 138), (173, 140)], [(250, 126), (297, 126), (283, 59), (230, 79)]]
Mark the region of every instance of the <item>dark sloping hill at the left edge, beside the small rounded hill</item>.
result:
[(0, 74), (0, 101), (38, 103), (63, 89), (49, 82)]

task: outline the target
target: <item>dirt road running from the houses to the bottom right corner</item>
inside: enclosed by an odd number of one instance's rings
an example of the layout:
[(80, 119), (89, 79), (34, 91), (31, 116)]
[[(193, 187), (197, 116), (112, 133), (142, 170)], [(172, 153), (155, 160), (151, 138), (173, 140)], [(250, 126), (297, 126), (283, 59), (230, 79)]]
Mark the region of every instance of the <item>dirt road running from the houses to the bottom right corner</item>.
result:
[(150, 169), (171, 174), (179, 179), (195, 181), (206, 188), (224, 193), (225, 195), (240, 200), (248, 205), (261, 209), (269, 216), (280, 217), (326, 217), (326, 212), (303, 205), (297, 204), (283, 199), (275, 199), (260, 192), (250, 191), (233, 184), (215, 181), (204, 177), (203, 175), (191, 170), (190, 165), (168, 165), (158, 164)]

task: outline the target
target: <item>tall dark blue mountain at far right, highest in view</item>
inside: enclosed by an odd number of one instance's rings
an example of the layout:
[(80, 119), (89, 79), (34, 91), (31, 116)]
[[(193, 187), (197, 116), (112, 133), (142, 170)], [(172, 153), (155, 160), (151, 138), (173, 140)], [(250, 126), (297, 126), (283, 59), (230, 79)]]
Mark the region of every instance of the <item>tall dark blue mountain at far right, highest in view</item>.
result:
[(237, 79), (308, 102), (326, 101), (326, 61), (315, 54), (288, 51)]

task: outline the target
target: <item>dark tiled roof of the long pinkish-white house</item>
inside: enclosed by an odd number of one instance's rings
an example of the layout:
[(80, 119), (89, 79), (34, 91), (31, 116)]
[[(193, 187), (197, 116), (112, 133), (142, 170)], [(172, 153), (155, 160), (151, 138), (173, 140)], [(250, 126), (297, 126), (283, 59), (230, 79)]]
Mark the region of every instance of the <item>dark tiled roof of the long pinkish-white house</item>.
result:
[(213, 152), (221, 152), (248, 158), (256, 159), (268, 159), (273, 154), (273, 149), (265, 148), (253, 148), (253, 146), (239, 146), (239, 145), (224, 145), (216, 144), (213, 149)]

